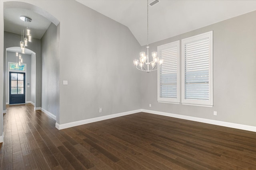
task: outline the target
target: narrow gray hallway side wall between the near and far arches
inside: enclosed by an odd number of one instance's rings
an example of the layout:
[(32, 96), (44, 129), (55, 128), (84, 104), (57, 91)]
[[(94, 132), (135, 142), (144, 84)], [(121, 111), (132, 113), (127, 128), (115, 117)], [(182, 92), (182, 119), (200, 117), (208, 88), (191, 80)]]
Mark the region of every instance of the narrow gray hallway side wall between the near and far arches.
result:
[(53, 23), (41, 38), (41, 57), (42, 109), (57, 115), (60, 108), (60, 61), (57, 56), (57, 27)]

